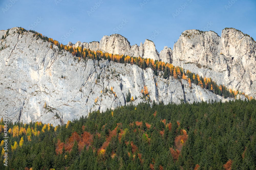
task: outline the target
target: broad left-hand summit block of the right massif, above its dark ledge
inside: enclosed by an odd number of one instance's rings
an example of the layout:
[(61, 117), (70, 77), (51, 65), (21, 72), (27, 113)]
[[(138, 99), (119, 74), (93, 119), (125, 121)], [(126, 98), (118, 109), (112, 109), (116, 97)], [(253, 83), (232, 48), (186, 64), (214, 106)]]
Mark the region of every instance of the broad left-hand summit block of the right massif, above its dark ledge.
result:
[(181, 65), (189, 62), (212, 65), (218, 54), (220, 37), (213, 31), (202, 32), (199, 30), (186, 30), (179, 37), (173, 47), (173, 62)]

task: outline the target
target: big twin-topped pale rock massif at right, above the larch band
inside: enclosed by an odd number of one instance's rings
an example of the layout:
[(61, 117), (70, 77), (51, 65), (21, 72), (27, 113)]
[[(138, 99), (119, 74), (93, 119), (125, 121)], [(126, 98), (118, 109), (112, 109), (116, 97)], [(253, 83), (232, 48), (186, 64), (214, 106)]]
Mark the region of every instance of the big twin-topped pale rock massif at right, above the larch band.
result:
[(255, 42), (233, 28), (222, 30), (221, 37), (187, 30), (174, 44), (172, 63), (255, 97), (255, 51)]

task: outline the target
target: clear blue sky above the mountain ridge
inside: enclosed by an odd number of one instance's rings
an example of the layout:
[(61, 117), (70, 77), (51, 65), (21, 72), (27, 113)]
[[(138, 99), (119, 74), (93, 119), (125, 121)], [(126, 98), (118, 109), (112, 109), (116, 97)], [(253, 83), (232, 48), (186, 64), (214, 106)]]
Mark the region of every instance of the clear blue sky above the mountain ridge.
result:
[(118, 33), (131, 45), (150, 39), (160, 52), (164, 46), (173, 49), (185, 30), (221, 35), (226, 27), (256, 40), (255, 0), (1, 0), (0, 9), (0, 30), (33, 29), (63, 44)]

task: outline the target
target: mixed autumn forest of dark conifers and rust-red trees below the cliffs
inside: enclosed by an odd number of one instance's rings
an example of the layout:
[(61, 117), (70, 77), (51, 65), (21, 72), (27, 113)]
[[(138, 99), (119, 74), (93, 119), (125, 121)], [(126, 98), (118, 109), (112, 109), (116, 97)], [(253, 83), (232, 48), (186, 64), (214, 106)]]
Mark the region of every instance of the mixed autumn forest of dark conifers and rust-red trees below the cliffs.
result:
[(8, 122), (8, 167), (1, 161), (0, 169), (254, 170), (255, 104), (153, 102), (92, 112), (56, 127)]

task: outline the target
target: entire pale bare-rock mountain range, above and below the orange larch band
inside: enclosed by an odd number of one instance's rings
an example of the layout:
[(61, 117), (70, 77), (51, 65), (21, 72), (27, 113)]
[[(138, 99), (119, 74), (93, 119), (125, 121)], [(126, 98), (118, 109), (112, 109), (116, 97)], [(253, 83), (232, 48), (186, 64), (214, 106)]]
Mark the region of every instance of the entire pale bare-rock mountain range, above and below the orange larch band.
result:
[[(92, 111), (105, 111), (129, 103), (233, 100), (195, 84), (190, 88), (185, 80), (164, 79), (161, 73), (156, 76), (151, 68), (144, 70), (109, 60), (78, 62), (71, 53), (60, 51), (55, 45), (50, 48), (51, 43), (31, 32), (20, 33), (16, 27), (1, 30), (1, 37), (4, 38), (0, 40), (0, 114), (6, 110), (12, 121), (57, 125)], [(166, 46), (160, 53), (150, 40), (140, 46), (131, 46), (119, 34), (104, 36), (100, 42), (78, 41), (68, 45), (162, 60), (202, 77), (211, 77), (217, 84), (256, 96), (255, 41), (233, 28), (222, 30), (221, 36), (213, 31), (186, 30), (173, 50)], [(150, 98), (143, 97), (144, 86)], [(127, 103), (128, 92), (136, 100)], [(242, 95), (236, 98), (245, 99)]]

